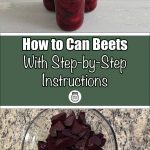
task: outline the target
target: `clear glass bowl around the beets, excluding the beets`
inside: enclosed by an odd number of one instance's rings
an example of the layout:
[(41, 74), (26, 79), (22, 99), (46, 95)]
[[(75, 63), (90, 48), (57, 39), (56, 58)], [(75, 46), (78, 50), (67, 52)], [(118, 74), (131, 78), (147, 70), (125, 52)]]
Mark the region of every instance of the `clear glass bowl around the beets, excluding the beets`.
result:
[(74, 111), (77, 115), (80, 111), (86, 114), (86, 121), (91, 125), (95, 133), (103, 133), (106, 138), (104, 150), (118, 150), (116, 136), (113, 128), (105, 117), (95, 109), (46, 109), (40, 112), (28, 126), (22, 142), (22, 150), (38, 150), (37, 142), (45, 141), (51, 127), (52, 116), (61, 112), (67, 115)]

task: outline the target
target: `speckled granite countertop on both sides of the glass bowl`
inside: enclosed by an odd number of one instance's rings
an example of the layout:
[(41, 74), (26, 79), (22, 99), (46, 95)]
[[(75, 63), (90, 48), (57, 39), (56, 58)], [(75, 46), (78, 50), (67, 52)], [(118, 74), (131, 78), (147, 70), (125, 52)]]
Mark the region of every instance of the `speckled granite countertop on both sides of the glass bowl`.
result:
[[(27, 126), (42, 110), (1, 109), (0, 149), (20, 150)], [(149, 109), (104, 109), (116, 133), (119, 150), (150, 150)]]

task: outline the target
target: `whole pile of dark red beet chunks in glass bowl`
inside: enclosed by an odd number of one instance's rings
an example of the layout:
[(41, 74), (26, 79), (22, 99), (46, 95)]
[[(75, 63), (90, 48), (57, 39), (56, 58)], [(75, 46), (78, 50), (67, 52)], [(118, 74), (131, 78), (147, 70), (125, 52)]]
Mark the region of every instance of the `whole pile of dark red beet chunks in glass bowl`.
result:
[(39, 141), (38, 150), (103, 150), (106, 139), (86, 123), (85, 113), (60, 113), (52, 117), (46, 142)]

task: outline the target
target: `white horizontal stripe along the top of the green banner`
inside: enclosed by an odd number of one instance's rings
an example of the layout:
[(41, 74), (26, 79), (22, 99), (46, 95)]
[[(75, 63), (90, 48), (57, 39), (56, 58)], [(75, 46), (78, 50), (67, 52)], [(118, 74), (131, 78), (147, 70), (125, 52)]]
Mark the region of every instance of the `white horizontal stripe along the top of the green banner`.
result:
[(1, 33), (1, 36), (149, 36), (150, 33)]

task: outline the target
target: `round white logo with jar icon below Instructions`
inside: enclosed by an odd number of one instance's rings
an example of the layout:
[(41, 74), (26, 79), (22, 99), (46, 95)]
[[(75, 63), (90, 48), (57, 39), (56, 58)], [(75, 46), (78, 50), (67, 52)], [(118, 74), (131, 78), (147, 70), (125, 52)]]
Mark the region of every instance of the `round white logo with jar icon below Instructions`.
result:
[(70, 102), (76, 104), (76, 103), (79, 103), (81, 101), (81, 93), (77, 90), (73, 90), (69, 93), (69, 96), (68, 96)]

